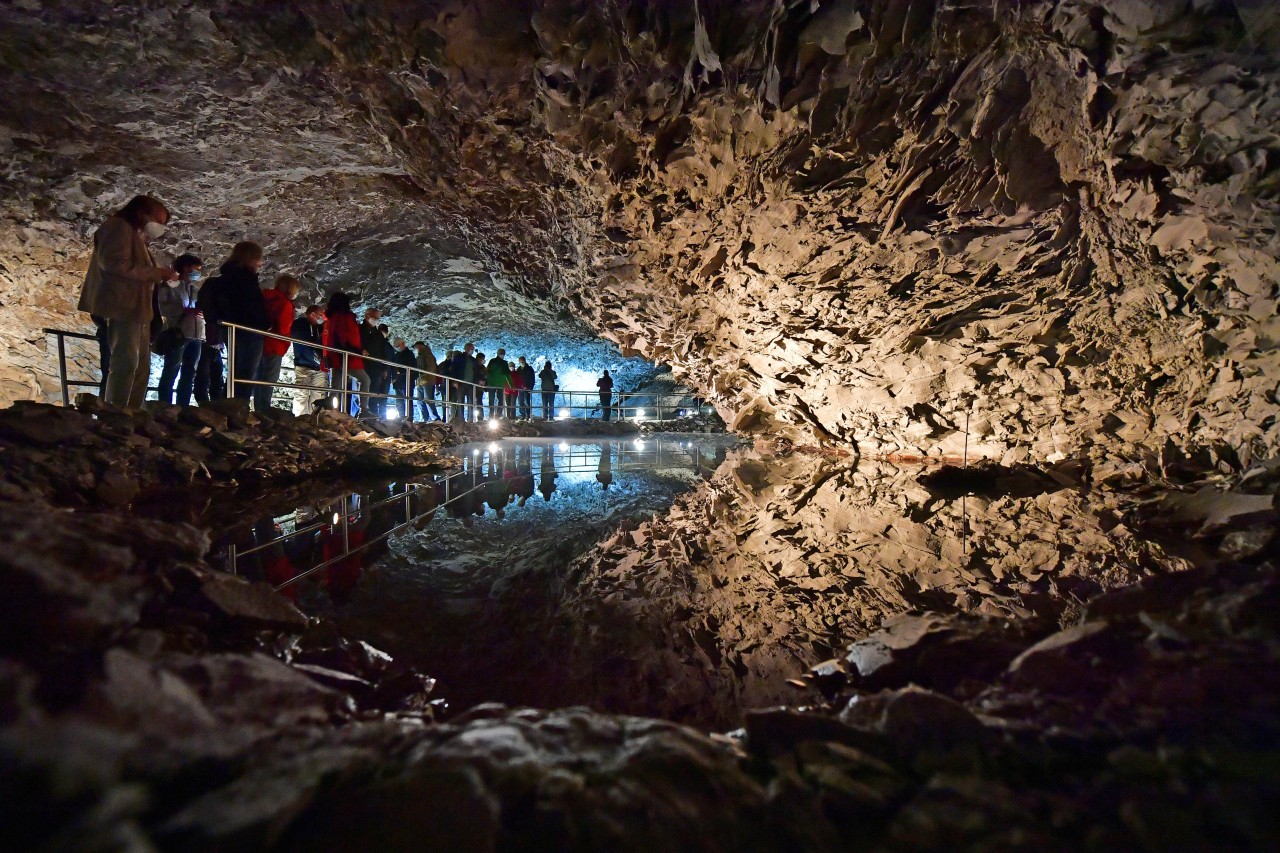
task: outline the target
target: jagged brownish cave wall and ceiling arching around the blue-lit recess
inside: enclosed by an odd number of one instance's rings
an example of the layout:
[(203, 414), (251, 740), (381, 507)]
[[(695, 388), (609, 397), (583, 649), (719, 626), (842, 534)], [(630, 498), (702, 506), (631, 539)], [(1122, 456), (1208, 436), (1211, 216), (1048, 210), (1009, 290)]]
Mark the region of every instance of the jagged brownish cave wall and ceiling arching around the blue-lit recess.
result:
[(31, 329), (150, 188), (170, 251), (461, 241), (742, 430), (1006, 462), (1280, 443), (1263, 4), (348, 6), (0, 12), (0, 398), (50, 391)]

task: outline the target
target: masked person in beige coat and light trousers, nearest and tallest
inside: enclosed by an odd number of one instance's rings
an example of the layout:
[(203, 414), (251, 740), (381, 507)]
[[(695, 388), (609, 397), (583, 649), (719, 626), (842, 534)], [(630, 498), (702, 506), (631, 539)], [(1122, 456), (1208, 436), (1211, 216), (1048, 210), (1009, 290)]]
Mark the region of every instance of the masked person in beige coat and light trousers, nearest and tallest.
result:
[(106, 402), (137, 409), (151, 373), (151, 292), (177, 282), (168, 266), (156, 266), (148, 240), (164, 234), (169, 211), (151, 196), (137, 196), (93, 233), (93, 256), (81, 287), (79, 310), (106, 320), (111, 368)]

